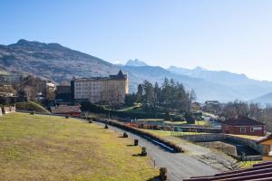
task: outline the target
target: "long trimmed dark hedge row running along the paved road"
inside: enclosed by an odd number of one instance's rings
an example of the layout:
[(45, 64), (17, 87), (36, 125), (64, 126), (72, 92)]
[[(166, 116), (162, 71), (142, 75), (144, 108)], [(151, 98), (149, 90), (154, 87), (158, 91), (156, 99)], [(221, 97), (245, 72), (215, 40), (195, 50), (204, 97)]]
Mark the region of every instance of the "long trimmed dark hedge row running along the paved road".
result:
[(130, 126), (123, 125), (119, 122), (115, 122), (112, 120), (106, 120), (106, 119), (93, 119), (93, 120), (98, 121), (98, 122), (102, 122), (104, 124), (109, 124), (109, 125), (112, 125), (114, 127), (120, 128), (120, 129), (128, 130), (128, 131), (130, 131), (134, 134), (137, 134), (141, 137), (148, 137), (148, 138), (154, 139), (154, 140), (159, 141), (160, 143), (166, 145), (167, 147), (172, 148), (175, 152), (178, 152), (178, 153), (183, 152), (183, 149), (180, 146), (170, 142), (169, 140), (166, 140), (164, 138), (160, 138), (156, 135), (153, 135), (149, 132), (142, 131), (141, 129), (135, 129)]

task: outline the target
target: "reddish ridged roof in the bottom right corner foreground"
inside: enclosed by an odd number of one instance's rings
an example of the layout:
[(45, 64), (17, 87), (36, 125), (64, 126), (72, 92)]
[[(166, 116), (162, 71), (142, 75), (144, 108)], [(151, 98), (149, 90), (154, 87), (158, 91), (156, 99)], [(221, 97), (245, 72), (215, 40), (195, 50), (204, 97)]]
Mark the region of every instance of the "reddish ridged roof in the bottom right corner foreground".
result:
[(183, 181), (209, 181), (209, 180), (272, 180), (272, 161), (262, 162), (253, 167), (232, 170), (216, 174), (214, 176), (193, 176)]

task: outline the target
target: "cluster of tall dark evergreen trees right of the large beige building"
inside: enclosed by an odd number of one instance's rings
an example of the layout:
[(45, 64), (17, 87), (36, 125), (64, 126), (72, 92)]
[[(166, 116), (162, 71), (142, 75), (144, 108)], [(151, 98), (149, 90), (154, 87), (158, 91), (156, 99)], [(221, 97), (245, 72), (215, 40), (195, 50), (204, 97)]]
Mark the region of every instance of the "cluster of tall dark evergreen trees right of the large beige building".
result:
[(125, 97), (125, 104), (141, 103), (145, 110), (151, 112), (161, 110), (165, 113), (189, 113), (191, 102), (196, 98), (194, 90), (186, 90), (179, 81), (165, 78), (161, 85), (158, 82), (153, 85), (150, 81), (143, 81), (138, 85), (136, 93)]

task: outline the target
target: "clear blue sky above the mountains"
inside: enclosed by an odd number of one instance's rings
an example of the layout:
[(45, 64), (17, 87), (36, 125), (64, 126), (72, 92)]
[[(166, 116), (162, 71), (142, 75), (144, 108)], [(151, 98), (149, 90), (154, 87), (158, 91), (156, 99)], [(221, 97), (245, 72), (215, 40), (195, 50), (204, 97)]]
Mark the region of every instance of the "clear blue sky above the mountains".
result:
[(270, 0), (2, 0), (0, 43), (61, 43), (108, 62), (272, 81), (271, 9)]

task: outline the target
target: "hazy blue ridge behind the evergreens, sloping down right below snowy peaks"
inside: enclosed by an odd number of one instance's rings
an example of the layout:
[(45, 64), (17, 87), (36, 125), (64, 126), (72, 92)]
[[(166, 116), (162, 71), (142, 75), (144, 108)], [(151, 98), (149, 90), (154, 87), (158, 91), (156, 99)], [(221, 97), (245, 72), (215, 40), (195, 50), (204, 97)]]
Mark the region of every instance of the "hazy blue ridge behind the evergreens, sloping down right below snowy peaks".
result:
[[(229, 101), (235, 99), (245, 100), (246, 97), (242, 93), (233, 90), (230, 87), (223, 86), (217, 83), (205, 81), (202, 79), (191, 78), (187, 75), (179, 75), (167, 71), (161, 67), (153, 66), (122, 66), (121, 70), (129, 72), (131, 84), (134, 82), (141, 82), (149, 80), (151, 82), (158, 81), (159, 83), (164, 80), (165, 77), (171, 78), (175, 81), (182, 82), (187, 89), (194, 89), (197, 92), (199, 101), (205, 100), (220, 100)], [(130, 76), (132, 75), (132, 76)], [(134, 87), (134, 89), (136, 89)]]

